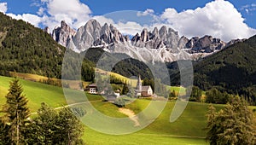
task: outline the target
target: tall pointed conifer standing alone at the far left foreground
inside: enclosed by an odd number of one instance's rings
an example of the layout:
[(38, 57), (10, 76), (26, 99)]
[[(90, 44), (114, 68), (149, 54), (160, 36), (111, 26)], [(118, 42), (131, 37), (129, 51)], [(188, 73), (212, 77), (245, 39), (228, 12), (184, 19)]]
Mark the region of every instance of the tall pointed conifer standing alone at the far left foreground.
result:
[(24, 131), (29, 109), (26, 96), (22, 95), (22, 87), (19, 79), (15, 78), (9, 85), (9, 93), (6, 97), (6, 104), (3, 107), (4, 122), (9, 125), (9, 140), (11, 144), (24, 143)]

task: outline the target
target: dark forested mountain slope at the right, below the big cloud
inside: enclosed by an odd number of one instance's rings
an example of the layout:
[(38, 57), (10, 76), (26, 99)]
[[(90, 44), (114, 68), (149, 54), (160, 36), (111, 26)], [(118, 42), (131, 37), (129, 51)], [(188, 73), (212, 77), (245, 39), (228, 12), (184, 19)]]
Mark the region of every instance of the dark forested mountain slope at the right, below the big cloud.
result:
[(210, 55), (195, 64), (195, 85), (256, 96), (256, 36)]

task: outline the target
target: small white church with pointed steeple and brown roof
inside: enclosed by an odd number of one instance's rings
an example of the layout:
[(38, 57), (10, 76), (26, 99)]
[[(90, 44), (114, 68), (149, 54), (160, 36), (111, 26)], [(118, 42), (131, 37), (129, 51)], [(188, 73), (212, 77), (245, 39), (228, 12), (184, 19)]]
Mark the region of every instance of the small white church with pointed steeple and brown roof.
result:
[(139, 75), (137, 79), (137, 89), (136, 89), (136, 95), (137, 96), (153, 96), (153, 90), (150, 85), (144, 85), (141, 80), (141, 76)]

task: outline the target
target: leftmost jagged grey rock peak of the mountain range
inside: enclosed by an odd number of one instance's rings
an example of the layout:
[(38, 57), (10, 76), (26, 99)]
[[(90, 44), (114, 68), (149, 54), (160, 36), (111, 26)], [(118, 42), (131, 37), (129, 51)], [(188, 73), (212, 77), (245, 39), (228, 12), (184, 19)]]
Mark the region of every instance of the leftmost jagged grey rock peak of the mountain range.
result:
[(52, 38), (62, 46), (67, 46), (67, 39), (72, 38), (76, 33), (70, 26), (66, 24), (64, 20), (61, 21), (61, 27), (55, 27), (52, 32)]

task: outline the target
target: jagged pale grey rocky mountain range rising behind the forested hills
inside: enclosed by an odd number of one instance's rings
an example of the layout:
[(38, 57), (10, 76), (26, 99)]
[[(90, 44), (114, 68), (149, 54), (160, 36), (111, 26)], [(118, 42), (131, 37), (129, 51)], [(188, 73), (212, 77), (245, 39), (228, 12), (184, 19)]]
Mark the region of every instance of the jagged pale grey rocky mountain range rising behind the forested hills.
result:
[(177, 31), (166, 26), (161, 26), (160, 29), (154, 27), (152, 32), (144, 28), (130, 39), (113, 25), (105, 23), (101, 26), (93, 19), (81, 26), (78, 31), (73, 30), (65, 21), (61, 21), (61, 26), (56, 26), (51, 36), (57, 43), (76, 52), (97, 47), (110, 53), (125, 53), (131, 58), (144, 62), (198, 60), (245, 40), (237, 39), (225, 43), (219, 38), (208, 35), (189, 39), (184, 36), (179, 37)]

